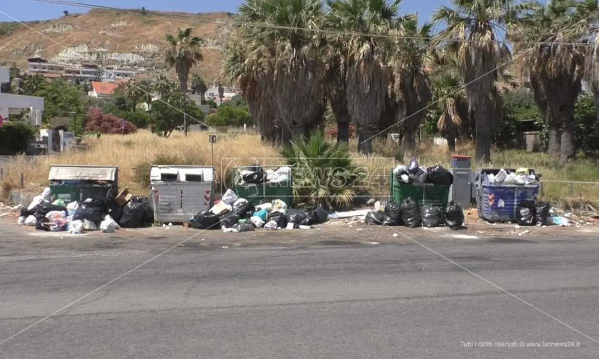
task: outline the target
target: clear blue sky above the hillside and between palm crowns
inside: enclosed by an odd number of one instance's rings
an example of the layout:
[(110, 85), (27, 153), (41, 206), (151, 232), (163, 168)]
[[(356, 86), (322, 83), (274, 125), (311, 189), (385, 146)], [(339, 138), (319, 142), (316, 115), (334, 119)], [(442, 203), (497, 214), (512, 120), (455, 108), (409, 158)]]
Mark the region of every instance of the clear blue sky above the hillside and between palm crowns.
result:
[[(69, 0), (71, 1), (71, 0)], [(72, 0), (84, 4), (119, 8), (141, 8), (155, 11), (181, 11), (184, 13), (210, 13), (213, 11), (237, 12), (243, 0)], [(450, 0), (403, 0), (401, 13), (418, 13), (419, 20), (428, 20), (440, 5), (449, 5)], [(62, 11), (84, 13), (84, 8), (67, 7), (56, 4), (43, 4), (31, 0), (0, 0), (0, 22), (50, 20), (62, 16)], [(13, 17), (14, 19), (11, 19)]]

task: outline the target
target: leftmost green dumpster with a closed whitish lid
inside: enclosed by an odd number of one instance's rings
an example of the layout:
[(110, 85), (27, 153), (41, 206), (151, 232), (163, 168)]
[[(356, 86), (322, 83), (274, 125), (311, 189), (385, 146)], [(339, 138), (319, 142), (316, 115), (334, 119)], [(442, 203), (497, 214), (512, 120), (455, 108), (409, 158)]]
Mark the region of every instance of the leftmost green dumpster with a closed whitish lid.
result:
[(65, 203), (117, 195), (119, 168), (116, 166), (50, 166), (50, 196)]

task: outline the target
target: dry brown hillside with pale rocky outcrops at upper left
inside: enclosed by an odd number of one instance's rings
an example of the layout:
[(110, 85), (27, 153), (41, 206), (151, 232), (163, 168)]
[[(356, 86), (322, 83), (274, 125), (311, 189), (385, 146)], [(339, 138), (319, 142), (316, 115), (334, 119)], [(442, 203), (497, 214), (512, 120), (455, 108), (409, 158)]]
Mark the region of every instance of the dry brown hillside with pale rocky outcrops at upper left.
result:
[[(101, 65), (144, 68), (142, 77), (164, 74), (162, 59), (165, 35), (178, 28), (193, 28), (204, 39), (204, 61), (192, 73), (202, 74), (208, 84), (220, 74), (231, 27), (226, 13), (141, 14), (135, 11), (91, 10), (44, 22), (0, 23), (0, 64), (13, 63), (22, 70), (29, 57), (52, 62), (78, 63), (90, 60)], [(40, 35), (43, 34), (43, 35)], [(176, 74), (169, 71), (173, 79)]]

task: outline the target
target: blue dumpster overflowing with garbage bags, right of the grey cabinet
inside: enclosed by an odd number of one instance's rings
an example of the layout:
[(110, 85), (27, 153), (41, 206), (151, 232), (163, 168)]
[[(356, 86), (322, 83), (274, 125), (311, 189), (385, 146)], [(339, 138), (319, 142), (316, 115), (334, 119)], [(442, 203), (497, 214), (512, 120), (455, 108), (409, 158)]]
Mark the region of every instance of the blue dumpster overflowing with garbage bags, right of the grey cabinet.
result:
[[(513, 172), (507, 170), (509, 172)], [(477, 180), (477, 209), (479, 217), (489, 222), (514, 222), (516, 209), (522, 201), (537, 202), (539, 184), (485, 184), (488, 174), (497, 174), (498, 170), (483, 169)], [(533, 172), (531, 170), (531, 172)], [(534, 173), (534, 172), (533, 172)]]

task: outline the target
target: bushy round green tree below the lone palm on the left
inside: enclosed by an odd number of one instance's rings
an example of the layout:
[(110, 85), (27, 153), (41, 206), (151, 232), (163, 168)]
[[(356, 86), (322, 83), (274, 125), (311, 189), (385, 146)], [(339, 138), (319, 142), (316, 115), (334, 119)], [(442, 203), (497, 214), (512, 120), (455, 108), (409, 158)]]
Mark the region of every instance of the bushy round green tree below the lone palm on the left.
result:
[(204, 114), (195, 102), (180, 90), (167, 93), (162, 96), (161, 101), (152, 104), (152, 132), (160, 136), (170, 136), (186, 120), (189, 126), (203, 119)]

